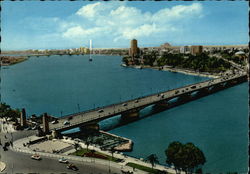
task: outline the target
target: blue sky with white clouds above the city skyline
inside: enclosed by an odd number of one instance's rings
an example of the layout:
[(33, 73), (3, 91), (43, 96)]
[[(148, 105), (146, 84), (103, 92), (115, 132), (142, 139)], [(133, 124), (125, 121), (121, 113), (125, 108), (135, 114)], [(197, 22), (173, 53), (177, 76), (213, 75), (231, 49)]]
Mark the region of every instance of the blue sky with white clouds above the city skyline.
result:
[(1, 50), (248, 44), (246, 1), (1, 1)]

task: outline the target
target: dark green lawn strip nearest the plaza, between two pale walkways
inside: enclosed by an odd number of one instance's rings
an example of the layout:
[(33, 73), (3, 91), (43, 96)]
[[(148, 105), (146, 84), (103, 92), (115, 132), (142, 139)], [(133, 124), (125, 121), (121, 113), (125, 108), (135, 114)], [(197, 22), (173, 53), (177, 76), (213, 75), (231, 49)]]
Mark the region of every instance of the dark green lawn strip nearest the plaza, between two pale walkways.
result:
[(121, 161), (121, 159), (119, 159), (119, 158), (115, 158), (115, 157), (112, 157), (112, 156), (109, 156), (109, 155), (106, 155), (104, 153), (97, 152), (97, 151), (91, 151), (89, 149), (79, 149), (79, 150), (75, 151), (74, 153), (71, 153), (71, 155), (99, 158), (99, 159), (104, 159), (104, 160), (110, 160), (113, 162), (120, 162)]

